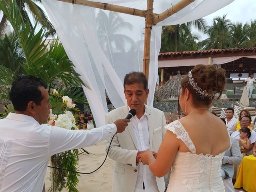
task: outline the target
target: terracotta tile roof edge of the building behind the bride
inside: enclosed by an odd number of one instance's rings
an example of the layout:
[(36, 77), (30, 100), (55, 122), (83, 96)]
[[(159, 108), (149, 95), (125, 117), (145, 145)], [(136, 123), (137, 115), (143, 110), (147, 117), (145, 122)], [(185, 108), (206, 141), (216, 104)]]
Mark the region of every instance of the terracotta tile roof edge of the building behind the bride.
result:
[(248, 50), (248, 51), (256, 50), (256, 47), (250, 47), (250, 48), (230, 48), (230, 49), (210, 49), (210, 50), (202, 50), (202, 51), (167, 52), (167, 53), (159, 53), (159, 56), (178, 55), (178, 54), (215, 53), (215, 52), (228, 52), (228, 51), (246, 51), (246, 50)]

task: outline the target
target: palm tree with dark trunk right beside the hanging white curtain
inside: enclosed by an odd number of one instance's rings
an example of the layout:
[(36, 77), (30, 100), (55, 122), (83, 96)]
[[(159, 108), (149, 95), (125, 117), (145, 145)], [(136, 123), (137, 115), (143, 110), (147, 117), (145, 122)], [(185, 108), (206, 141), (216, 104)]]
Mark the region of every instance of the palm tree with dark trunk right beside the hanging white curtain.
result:
[[(195, 44), (199, 37), (192, 34), (192, 27), (204, 32), (206, 21), (201, 18), (185, 24), (163, 26), (161, 52), (196, 50)], [(180, 41), (180, 38), (189, 38), (189, 40), (183, 39)], [(190, 44), (184, 46), (186, 42), (190, 42)]]

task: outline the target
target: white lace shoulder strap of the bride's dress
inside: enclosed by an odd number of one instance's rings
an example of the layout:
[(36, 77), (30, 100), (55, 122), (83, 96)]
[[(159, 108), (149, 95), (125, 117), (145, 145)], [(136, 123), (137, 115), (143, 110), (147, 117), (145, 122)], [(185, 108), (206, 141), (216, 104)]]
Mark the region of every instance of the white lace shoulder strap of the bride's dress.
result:
[(177, 138), (182, 140), (192, 153), (196, 154), (196, 147), (190, 139), (188, 132), (186, 132), (185, 128), (178, 120), (166, 125), (165, 128), (176, 134)]

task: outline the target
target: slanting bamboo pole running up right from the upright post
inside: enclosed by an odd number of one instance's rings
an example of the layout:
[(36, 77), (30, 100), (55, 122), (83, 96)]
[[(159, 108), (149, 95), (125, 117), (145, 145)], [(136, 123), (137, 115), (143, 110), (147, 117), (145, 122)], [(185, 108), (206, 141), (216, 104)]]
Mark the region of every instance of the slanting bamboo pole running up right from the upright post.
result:
[(166, 18), (172, 16), (174, 13), (182, 10), (183, 8), (185, 8), (186, 6), (188, 6), (190, 3), (194, 1), (195, 0), (181, 0), (180, 2), (176, 3), (174, 6), (160, 13), (158, 16), (154, 16), (153, 25), (156, 25), (159, 22), (165, 20)]

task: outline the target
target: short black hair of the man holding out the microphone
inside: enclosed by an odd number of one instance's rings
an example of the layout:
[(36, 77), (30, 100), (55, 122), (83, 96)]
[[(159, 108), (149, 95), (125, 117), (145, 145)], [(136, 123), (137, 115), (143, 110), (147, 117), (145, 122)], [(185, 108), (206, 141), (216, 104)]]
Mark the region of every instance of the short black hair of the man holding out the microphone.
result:
[(33, 101), (40, 105), (44, 99), (39, 86), (47, 88), (47, 85), (38, 77), (18, 76), (12, 83), (10, 90), (10, 100), (17, 111), (26, 111), (28, 102)]

